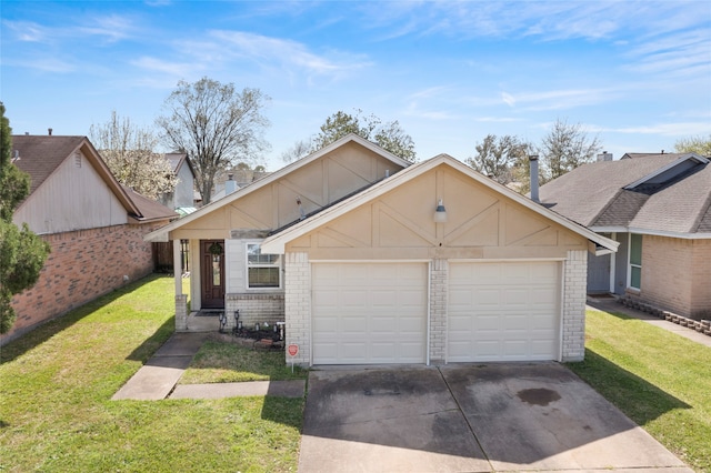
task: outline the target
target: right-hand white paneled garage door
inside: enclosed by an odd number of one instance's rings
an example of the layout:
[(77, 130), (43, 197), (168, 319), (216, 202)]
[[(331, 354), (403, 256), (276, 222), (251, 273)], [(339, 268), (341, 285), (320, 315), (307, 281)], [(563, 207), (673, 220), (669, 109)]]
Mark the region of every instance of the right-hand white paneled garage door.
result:
[(448, 361), (559, 359), (560, 263), (451, 263)]

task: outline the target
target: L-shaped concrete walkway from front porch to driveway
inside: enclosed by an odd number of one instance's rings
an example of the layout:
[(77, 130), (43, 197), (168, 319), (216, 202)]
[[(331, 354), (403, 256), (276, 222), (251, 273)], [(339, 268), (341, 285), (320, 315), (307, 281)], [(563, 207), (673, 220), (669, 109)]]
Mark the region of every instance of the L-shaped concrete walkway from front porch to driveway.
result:
[(111, 397), (158, 401), (162, 399), (221, 399), (253, 395), (301, 397), (306, 380), (244, 383), (178, 384), (192, 358), (210, 336), (206, 332), (173, 333), (170, 339)]

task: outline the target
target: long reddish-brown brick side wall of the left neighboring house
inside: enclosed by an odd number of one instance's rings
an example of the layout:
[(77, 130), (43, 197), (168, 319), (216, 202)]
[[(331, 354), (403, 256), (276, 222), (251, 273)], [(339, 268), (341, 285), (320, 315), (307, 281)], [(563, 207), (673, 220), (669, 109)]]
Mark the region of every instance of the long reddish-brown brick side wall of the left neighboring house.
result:
[(17, 321), (0, 340), (8, 342), (40, 322), (120, 288), (126, 284), (124, 275), (134, 281), (152, 272), (152, 244), (144, 242), (143, 235), (166, 223), (43, 235), (52, 252), (37, 284), (12, 299)]

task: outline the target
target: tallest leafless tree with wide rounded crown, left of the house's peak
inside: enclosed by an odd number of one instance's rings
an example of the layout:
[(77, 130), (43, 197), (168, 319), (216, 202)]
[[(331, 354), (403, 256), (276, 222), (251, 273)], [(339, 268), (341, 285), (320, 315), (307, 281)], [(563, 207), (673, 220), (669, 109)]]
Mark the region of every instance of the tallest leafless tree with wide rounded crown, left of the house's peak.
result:
[(209, 203), (216, 177), (237, 161), (253, 161), (268, 148), (262, 139), (269, 121), (262, 109), (269, 97), (259, 89), (234, 89), (202, 78), (178, 82), (157, 120), (163, 139), (187, 152), (196, 168), (202, 202)]

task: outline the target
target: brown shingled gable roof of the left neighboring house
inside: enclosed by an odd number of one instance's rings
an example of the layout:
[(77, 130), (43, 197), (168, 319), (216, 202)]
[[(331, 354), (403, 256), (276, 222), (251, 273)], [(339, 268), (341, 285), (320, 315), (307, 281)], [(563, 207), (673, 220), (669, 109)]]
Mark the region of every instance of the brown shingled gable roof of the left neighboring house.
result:
[[(128, 188), (124, 189), (116, 180), (87, 137), (18, 134), (12, 137), (12, 150), (13, 152), (17, 150), (20, 157), (19, 160), (13, 161), (14, 165), (30, 174), (29, 195), (32, 195), (66, 160), (71, 159), (77, 152), (81, 152), (121, 202), (130, 218), (138, 222), (147, 222), (177, 217), (167, 207), (149, 201)], [(162, 209), (156, 205), (160, 205)], [(158, 218), (159, 214), (162, 217), (161, 219)]]

